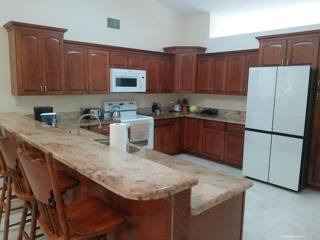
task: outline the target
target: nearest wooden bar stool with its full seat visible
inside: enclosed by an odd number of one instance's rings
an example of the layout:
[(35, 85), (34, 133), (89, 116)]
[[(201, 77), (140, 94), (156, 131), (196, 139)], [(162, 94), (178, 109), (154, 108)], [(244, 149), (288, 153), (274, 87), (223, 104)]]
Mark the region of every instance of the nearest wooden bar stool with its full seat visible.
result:
[[(105, 236), (124, 224), (125, 215), (95, 196), (84, 197), (64, 205), (58, 189), (51, 153), (45, 160), (32, 159), (17, 150), (40, 211), (39, 225), (49, 239), (89, 239)], [(55, 205), (52, 205), (52, 192)]]

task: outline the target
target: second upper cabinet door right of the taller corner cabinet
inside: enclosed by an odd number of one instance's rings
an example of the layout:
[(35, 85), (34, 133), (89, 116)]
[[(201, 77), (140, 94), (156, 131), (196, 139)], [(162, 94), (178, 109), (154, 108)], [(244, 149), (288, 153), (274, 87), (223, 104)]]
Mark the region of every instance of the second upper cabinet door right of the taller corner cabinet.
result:
[(227, 81), (227, 66), (228, 57), (214, 57), (213, 68), (211, 72), (211, 81), (213, 82), (213, 89), (211, 93), (225, 94)]

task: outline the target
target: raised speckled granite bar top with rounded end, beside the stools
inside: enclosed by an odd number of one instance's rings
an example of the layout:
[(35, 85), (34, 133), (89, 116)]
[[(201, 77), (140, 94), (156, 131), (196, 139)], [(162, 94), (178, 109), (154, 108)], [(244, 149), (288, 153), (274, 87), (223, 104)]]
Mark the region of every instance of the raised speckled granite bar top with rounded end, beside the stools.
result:
[(195, 176), (92, 140), (100, 134), (81, 129), (78, 136), (74, 123), (55, 128), (17, 113), (0, 113), (0, 125), (124, 198), (164, 198), (198, 182)]

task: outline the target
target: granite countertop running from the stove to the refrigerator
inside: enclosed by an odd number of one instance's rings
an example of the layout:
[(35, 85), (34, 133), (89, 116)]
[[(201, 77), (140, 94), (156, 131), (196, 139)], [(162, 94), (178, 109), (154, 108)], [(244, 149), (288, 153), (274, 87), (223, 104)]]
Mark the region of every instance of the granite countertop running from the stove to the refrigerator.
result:
[(202, 113), (194, 113), (187, 111), (183, 112), (168, 112), (161, 111), (160, 113), (152, 113), (150, 111), (138, 110), (138, 114), (152, 116), (154, 120), (163, 119), (163, 118), (171, 118), (171, 117), (195, 117), (205, 120), (214, 120), (214, 121), (223, 121), (228, 123), (236, 123), (236, 124), (245, 124), (245, 113), (241, 111), (227, 111), (227, 110), (219, 110), (219, 114), (216, 115), (208, 115)]

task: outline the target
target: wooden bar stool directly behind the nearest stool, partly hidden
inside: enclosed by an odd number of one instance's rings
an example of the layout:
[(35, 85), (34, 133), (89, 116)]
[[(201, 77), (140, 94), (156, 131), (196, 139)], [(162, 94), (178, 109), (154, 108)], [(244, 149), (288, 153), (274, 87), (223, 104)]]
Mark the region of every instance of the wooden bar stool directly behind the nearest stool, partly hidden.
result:
[[(19, 148), (26, 152), (23, 144), (21, 141), (18, 141), (16, 139), (15, 133), (10, 134), (12, 140), (9, 137), (0, 137), (0, 151), (2, 153), (4, 162), (7, 166), (7, 169), (10, 172), (10, 179), (11, 184), (7, 184), (7, 195), (11, 194), (11, 190), (15, 193), (15, 195), (24, 201), (23, 203), (23, 209), (22, 209), (22, 216), (19, 226), (19, 235), (18, 239), (22, 239), (22, 235), (26, 239), (33, 240), (37, 236), (35, 235), (36, 230), (36, 219), (38, 216), (38, 210), (36, 201), (34, 198), (34, 195), (31, 191), (30, 185), (27, 181), (26, 177), (23, 177), (24, 172), (21, 167), (21, 164), (18, 163), (17, 154), (16, 154), (16, 148)], [(37, 155), (34, 155), (30, 153), (33, 157), (38, 157)], [(63, 175), (62, 173), (59, 175)], [(61, 190), (65, 191), (67, 189), (70, 189), (74, 187), (77, 184), (77, 181), (69, 176), (62, 177), (62, 181), (60, 183)], [(67, 178), (68, 180), (65, 180)], [(3, 230), (3, 239), (8, 239), (8, 224), (9, 224), (9, 215), (10, 215), (10, 200), (7, 198), (6, 201), (6, 207), (5, 207), (5, 226)], [(31, 211), (31, 230), (30, 235), (28, 235), (24, 231), (24, 226), (26, 222), (26, 216), (27, 211)], [(41, 235), (41, 234), (40, 234)], [(40, 236), (38, 235), (38, 236)], [(42, 234), (43, 235), (43, 234)]]

